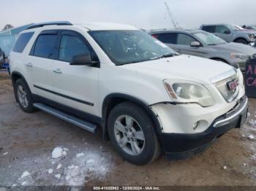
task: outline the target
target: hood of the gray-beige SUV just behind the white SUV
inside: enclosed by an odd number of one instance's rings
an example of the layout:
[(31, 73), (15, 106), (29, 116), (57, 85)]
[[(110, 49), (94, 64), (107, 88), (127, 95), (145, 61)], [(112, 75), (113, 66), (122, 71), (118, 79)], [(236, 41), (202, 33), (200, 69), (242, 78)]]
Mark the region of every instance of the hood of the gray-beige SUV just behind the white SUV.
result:
[(212, 48), (217, 48), (218, 51), (225, 51), (230, 53), (241, 53), (246, 55), (254, 55), (256, 54), (255, 47), (251, 47), (246, 44), (239, 44), (235, 42), (225, 43), (225, 44), (218, 44), (215, 46), (209, 46)]

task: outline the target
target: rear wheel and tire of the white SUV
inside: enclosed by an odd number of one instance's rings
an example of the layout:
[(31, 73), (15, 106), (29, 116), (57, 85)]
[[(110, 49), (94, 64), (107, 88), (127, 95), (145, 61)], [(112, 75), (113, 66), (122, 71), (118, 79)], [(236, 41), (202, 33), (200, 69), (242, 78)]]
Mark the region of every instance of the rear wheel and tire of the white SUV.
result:
[(26, 85), (26, 82), (23, 79), (17, 79), (17, 81), (15, 82), (14, 91), (18, 104), (24, 112), (31, 113), (36, 110), (33, 106), (31, 91), (29, 90), (28, 85)]

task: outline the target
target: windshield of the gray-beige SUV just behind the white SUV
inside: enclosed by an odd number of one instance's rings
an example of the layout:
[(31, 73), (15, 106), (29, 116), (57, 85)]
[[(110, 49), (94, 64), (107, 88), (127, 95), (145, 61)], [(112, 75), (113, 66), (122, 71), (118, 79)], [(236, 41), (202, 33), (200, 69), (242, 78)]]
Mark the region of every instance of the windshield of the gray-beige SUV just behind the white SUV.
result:
[(200, 42), (204, 42), (207, 45), (217, 45), (217, 44), (225, 44), (225, 40), (220, 39), (218, 36), (215, 36), (214, 34), (210, 34), (207, 32), (197, 32), (194, 34), (194, 36), (197, 37), (197, 39), (200, 40)]

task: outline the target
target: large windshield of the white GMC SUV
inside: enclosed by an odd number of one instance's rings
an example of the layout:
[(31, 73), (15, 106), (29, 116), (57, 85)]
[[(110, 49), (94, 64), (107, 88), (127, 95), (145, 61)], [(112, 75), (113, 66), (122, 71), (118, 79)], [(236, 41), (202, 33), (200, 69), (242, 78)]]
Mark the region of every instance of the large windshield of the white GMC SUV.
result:
[(116, 65), (177, 55), (143, 31), (89, 31), (89, 34)]

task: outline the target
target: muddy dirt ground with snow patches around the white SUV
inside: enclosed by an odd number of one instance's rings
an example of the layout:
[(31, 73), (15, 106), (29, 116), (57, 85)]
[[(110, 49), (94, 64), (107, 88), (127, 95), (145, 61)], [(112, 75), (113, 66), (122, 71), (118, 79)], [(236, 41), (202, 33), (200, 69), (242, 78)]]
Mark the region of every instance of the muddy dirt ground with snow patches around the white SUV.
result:
[[(119, 157), (100, 132), (44, 112), (22, 112), (10, 77), (1, 72), (0, 185), (256, 185), (255, 109), (250, 99), (244, 127), (230, 130), (203, 154), (175, 162), (162, 156), (137, 166)], [(53, 159), (55, 147), (66, 153)]]

